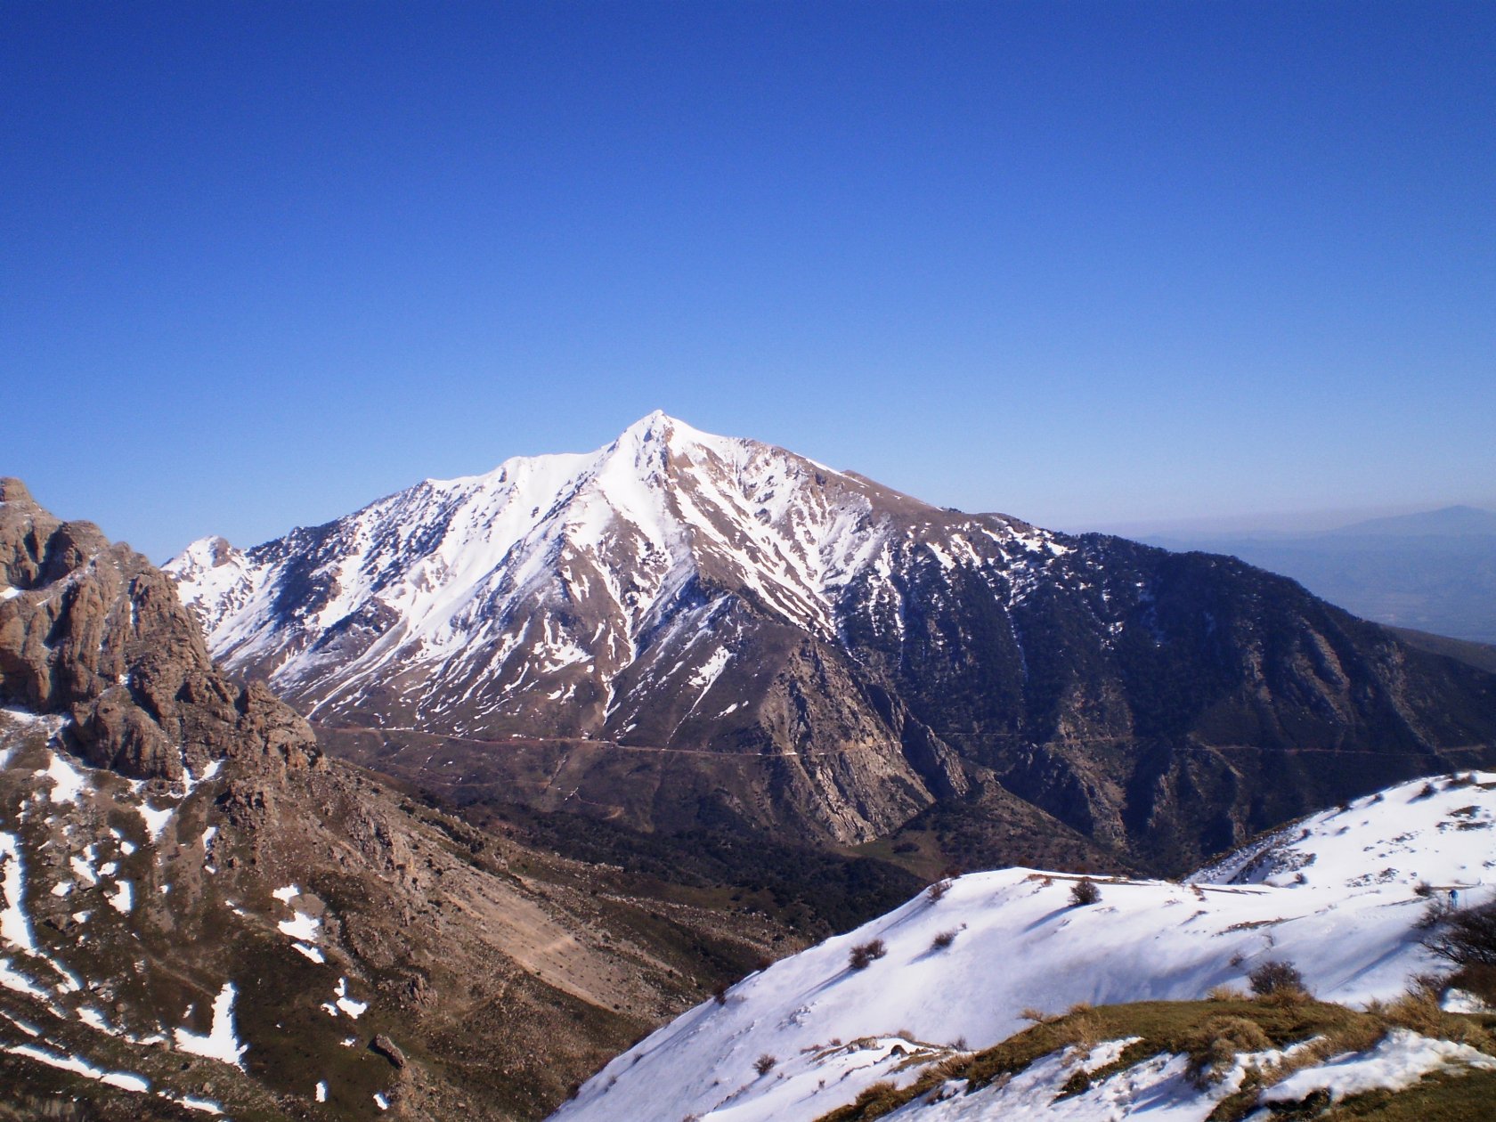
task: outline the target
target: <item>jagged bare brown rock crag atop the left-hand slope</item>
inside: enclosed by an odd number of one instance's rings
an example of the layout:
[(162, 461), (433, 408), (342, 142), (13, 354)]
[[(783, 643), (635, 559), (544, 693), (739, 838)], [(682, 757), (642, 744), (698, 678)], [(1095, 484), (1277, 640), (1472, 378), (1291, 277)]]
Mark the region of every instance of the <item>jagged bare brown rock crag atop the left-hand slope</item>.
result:
[(316, 764), (295, 711), (212, 666), (166, 574), (15, 479), (0, 480), (0, 702), (67, 715), (90, 764), (171, 782), (230, 754)]

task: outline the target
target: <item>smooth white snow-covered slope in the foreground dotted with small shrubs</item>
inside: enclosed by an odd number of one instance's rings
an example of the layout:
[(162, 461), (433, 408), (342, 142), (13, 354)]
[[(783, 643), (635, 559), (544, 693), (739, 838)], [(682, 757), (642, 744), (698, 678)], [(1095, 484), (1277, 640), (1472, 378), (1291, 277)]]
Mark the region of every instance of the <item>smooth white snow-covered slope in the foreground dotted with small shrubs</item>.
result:
[[(1496, 773), (1475, 779), (1358, 799), (1188, 884), (1103, 881), (1089, 907), (1071, 904), (1074, 877), (962, 877), (942, 899), (922, 895), (682, 1014), (613, 1059), (557, 1122), (814, 1119), (875, 1082), (911, 1083), (951, 1041), (1004, 1040), (1025, 1010), (1198, 999), (1245, 986), (1266, 960), (1297, 965), (1325, 1001), (1394, 996), (1432, 963), (1421, 884), (1457, 887), (1466, 905), (1496, 896)], [(850, 950), (872, 939), (886, 954), (853, 969)], [(776, 1061), (766, 1074), (760, 1056)], [(945, 1116), (986, 1115), (931, 1113)]]

